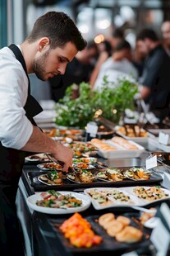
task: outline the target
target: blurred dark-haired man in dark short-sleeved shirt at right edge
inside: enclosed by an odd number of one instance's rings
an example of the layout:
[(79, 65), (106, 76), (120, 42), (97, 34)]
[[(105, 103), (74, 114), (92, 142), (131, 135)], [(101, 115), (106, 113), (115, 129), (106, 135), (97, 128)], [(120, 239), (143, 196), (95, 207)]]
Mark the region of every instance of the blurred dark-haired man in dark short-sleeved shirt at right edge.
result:
[(139, 79), (140, 97), (160, 120), (169, 114), (170, 58), (158, 35), (152, 29), (140, 31), (136, 37), (139, 52), (145, 55), (143, 72)]

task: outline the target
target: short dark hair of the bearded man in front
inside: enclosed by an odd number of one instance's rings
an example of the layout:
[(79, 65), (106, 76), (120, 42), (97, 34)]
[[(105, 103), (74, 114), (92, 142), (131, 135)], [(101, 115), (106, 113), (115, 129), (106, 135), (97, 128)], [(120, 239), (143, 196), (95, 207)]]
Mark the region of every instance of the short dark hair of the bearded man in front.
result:
[(77, 50), (83, 50), (87, 44), (75, 22), (64, 12), (47, 12), (39, 17), (34, 22), (33, 30), (27, 40), (33, 43), (44, 36), (49, 38), (51, 49), (62, 47), (71, 41), (76, 45)]

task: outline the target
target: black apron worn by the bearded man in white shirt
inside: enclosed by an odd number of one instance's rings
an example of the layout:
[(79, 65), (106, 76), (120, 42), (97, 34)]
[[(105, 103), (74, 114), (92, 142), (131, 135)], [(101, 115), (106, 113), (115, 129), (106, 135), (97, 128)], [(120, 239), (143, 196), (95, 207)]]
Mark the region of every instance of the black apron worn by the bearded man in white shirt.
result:
[[(16, 45), (10, 45), (28, 77), (25, 59)], [(30, 80), (28, 97), (25, 103), (25, 115), (36, 126), (33, 117), (43, 111), (34, 97), (30, 95)], [(0, 254), (24, 256), (21, 229), (16, 216), (16, 192), (25, 162), (25, 152), (6, 148), (0, 142)]]

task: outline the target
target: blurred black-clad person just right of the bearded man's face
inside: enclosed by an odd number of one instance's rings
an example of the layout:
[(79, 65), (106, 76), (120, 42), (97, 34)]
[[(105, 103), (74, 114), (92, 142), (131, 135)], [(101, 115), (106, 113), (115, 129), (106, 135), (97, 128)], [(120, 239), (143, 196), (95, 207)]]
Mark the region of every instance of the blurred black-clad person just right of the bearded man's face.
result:
[(71, 63), (67, 65), (64, 75), (48, 79), (52, 98), (55, 102), (58, 102), (62, 97), (64, 97), (67, 87), (71, 84), (76, 83), (78, 85), (81, 82), (89, 82), (98, 54), (98, 46), (94, 43), (94, 40), (90, 40), (85, 49), (80, 51), (75, 58), (72, 59)]

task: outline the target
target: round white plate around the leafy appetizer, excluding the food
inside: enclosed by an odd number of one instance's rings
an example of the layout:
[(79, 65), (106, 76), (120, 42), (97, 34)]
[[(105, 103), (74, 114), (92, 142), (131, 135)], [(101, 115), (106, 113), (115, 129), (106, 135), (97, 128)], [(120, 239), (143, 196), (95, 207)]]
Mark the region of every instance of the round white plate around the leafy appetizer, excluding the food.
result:
[(28, 197), (26, 199), (26, 202), (32, 210), (43, 212), (43, 213), (48, 213), (48, 214), (69, 214), (69, 213), (73, 213), (73, 212), (80, 212), (80, 211), (85, 211), (90, 206), (89, 197), (87, 197), (83, 194), (80, 194), (80, 193), (77, 193), (77, 192), (69, 192), (69, 191), (58, 191), (58, 192), (60, 192), (63, 195), (71, 194), (71, 196), (76, 197), (76, 199), (82, 201), (82, 206), (71, 207), (71, 208), (67, 208), (67, 209), (37, 206), (36, 201), (43, 199), (43, 197), (40, 196), (40, 194), (42, 192), (37, 192), (34, 195)]

